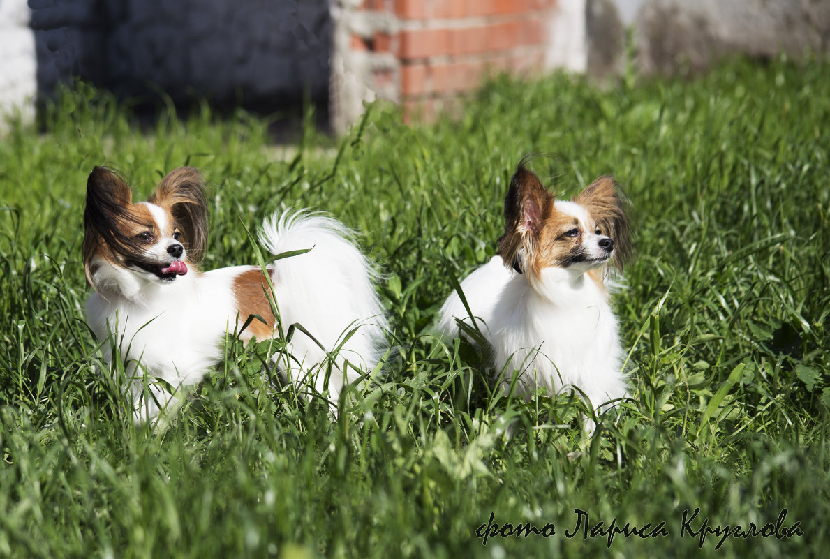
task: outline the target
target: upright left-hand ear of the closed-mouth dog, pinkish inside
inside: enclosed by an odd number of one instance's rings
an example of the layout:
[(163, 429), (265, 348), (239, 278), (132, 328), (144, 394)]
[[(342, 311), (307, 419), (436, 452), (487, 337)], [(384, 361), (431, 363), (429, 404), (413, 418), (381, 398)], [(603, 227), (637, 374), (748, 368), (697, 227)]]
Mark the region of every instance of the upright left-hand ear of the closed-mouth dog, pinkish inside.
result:
[(505, 197), (505, 234), (499, 239), (499, 255), (507, 267), (520, 273), (531, 269), (535, 245), (553, 203), (554, 195), (525, 167), (523, 159)]

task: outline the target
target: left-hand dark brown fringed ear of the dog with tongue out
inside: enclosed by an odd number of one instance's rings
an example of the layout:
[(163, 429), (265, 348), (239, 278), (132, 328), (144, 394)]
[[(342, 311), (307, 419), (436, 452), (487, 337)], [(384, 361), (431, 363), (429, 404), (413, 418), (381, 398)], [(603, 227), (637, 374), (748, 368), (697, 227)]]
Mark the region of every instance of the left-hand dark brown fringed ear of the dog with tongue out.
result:
[(117, 260), (119, 255), (129, 254), (135, 241), (123, 232), (125, 223), (134, 221), (129, 214), (133, 193), (124, 177), (114, 170), (95, 167), (86, 180), (86, 204), (84, 208), (84, 274), (90, 285), (90, 264), (95, 254), (107, 255)]

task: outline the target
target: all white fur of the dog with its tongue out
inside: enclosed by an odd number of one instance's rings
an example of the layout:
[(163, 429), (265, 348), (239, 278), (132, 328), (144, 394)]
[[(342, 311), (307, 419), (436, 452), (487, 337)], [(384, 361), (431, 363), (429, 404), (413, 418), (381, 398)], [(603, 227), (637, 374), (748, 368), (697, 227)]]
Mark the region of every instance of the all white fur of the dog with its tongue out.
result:
[[(159, 213), (164, 215), (155, 211), (159, 207), (149, 206), (157, 219)], [(344, 369), (344, 359), (363, 371), (374, 369), (387, 328), (374, 292), (374, 272), (350, 237), (338, 221), (302, 211), (273, 216), (265, 221), (260, 235), (261, 244), (273, 255), (311, 249), (273, 265), (272, 283), (284, 330), (291, 323), (300, 323), (325, 348), (296, 331), (291, 344), (296, 361), (284, 361), (284, 372), (292, 380), (305, 382), (310, 373), (315, 388), (322, 391), (325, 378), (322, 372), (317, 374), (318, 366), (345, 333), (358, 328), (335, 358), (339, 368), (333, 368), (329, 385), (333, 401), (344, 383), (359, 377), (352, 367)], [(141, 270), (96, 260), (93, 281), (97, 292), (86, 304), (90, 327), (99, 339), (116, 334), (117, 351), (135, 379), (135, 419), (152, 418), (172, 399), (167, 388), (154, 379), (174, 388), (192, 385), (222, 358), (227, 333), (234, 333), (247, 319), (237, 317), (233, 280), (258, 268), (191, 271), (173, 282), (161, 283)], [(110, 359), (108, 344), (105, 353)], [(149, 395), (144, 394), (145, 387)]]

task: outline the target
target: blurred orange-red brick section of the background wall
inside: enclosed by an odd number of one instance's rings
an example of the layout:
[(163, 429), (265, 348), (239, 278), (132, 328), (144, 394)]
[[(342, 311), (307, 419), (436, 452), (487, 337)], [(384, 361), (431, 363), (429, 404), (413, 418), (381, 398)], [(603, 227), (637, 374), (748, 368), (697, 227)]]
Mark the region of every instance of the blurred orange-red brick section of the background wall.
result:
[(378, 83), (367, 86), (388, 91), (392, 80), (393, 100), (408, 116), (429, 119), (487, 75), (541, 70), (556, 7), (557, 0), (364, 0), (360, 10), (375, 23), (354, 34), (352, 48), (391, 53), (397, 70), (373, 71)]

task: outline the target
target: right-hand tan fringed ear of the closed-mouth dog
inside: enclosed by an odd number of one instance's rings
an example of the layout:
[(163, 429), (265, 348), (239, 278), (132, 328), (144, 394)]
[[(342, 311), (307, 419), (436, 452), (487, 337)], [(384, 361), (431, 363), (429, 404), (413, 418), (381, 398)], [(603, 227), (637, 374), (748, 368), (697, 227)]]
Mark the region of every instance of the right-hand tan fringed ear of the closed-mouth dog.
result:
[(604, 175), (585, 187), (575, 202), (587, 208), (600, 232), (614, 241), (613, 265), (622, 272), (634, 250), (628, 211), (631, 203), (623, 188), (614, 177)]

